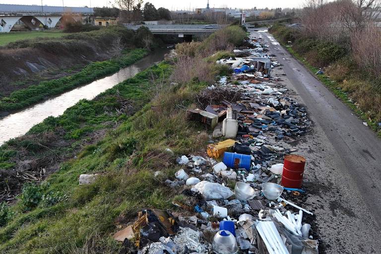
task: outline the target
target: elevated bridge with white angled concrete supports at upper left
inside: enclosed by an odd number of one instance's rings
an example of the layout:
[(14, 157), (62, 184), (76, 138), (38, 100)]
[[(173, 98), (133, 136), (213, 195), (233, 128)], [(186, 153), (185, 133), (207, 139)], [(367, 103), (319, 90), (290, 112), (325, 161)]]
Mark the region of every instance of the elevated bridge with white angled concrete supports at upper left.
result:
[(9, 32), (19, 20), (30, 29), (40, 24), (54, 28), (60, 20), (83, 21), (93, 14), (93, 8), (88, 7), (0, 4), (0, 32)]

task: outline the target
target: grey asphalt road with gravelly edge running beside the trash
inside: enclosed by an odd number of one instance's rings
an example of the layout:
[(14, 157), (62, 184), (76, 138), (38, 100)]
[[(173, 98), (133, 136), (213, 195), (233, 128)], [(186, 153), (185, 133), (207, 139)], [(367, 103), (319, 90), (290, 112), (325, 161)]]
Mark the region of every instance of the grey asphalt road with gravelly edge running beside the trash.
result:
[(295, 144), (305, 156), (303, 204), (314, 210), (313, 228), (320, 253), (381, 253), (381, 139), (267, 32), (282, 79), (296, 92), (314, 122), (313, 131)]

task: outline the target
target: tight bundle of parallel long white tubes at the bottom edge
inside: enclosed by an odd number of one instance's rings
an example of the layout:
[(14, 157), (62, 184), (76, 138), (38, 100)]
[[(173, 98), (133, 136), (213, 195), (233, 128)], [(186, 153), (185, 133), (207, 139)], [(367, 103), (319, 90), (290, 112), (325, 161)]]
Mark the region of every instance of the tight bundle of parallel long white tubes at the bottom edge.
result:
[(258, 221), (256, 230), (269, 254), (290, 254), (272, 221)]

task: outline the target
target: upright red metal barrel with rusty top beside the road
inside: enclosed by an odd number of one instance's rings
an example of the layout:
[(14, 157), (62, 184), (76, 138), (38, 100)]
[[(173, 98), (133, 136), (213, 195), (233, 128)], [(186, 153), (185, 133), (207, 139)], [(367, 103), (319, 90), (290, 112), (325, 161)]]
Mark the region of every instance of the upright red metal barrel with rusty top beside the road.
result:
[(300, 155), (286, 155), (283, 164), (282, 186), (300, 189), (302, 187), (306, 159)]

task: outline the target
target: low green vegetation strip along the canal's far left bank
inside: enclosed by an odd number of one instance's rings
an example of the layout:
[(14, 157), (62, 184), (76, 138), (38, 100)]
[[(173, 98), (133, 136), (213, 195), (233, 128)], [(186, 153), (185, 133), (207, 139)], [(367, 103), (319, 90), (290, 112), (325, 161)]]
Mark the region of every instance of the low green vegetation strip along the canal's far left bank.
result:
[(148, 51), (144, 49), (126, 50), (123, 52), (122, 57), (89, 64), (73, 75), (43, 81), (37, 85), (14, 91), (9, 96), (0, 99), (0, 111), (22, 109), (43, 100), (47, 96), (61, 94), (76, 86), (117, 72), (121, 67), (133, 64), (147, 54)]

